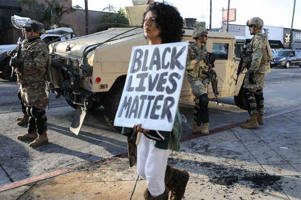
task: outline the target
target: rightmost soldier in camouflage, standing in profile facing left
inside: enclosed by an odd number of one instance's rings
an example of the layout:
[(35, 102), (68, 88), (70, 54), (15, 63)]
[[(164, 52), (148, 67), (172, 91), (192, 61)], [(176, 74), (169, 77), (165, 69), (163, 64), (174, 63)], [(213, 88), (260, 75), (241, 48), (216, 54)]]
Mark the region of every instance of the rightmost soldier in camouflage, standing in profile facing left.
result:
[(263, 88), (264, 76), (270, 73), (270, 60), (273, 53), (268, 39), (262, 33), (263, 20), (253, 17), (246, 22), (251, 35), (254, 35), (247, 45), (247, 53), (244, 58), (243, 68), (247, 68), (244, 80), (244, 98), (250, 119), (247, 119), (241, 127), (245, 129), (256, 129), (263, 124)]

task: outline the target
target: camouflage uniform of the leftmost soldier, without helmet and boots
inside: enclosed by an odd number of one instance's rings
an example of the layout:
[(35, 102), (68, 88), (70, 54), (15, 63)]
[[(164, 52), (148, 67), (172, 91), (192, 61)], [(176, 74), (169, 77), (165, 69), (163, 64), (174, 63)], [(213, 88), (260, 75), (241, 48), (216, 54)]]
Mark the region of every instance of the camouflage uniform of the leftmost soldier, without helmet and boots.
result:
[[(40, 37), (29, 41), (25, 39), (22, 43), (20, 59), (24, 62), (17, 67), (16, 72), (18, 84), (21, 85), (22, 100), (27, 106), (27, 113), (31, 116), (28, 122), (28, 133), (37, 130), (38, 134), (42, 134), (47, 126), (44, 109), (49, 103), (45, 92), (46, 67), (51, 62), (48, 46)], [(33, 109), (37, 114), (32, 114)]]

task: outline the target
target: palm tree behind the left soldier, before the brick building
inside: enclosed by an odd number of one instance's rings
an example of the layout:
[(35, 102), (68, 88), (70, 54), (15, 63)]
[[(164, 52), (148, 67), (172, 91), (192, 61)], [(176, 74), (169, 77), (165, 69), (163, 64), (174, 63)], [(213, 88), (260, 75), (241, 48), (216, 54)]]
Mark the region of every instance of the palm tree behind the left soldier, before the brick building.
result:
[(46, 27), (57, 24), (58, 27), (69, 27), (70, 25), (61, 22), (64, 14), (74, 13), (76, 9), (82, 9), (80, 6), (65, 8), (61, 1), (68, 0), (45, 0), (44, 3), (38, 3), (37, 0), (20, 0), (19, 5), (25, 6), (28, 10), (22, 11), (22, 17), (29, 17), (32, 20), (46, 20)]

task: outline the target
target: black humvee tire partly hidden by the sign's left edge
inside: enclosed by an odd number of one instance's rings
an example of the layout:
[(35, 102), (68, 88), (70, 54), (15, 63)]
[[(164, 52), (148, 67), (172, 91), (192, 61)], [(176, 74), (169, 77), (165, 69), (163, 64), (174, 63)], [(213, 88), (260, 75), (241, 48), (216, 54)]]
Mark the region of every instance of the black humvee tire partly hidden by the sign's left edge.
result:
[(122, 127), (114, 126), (114, 119), (119, 106), (119, 101), (121, 99), (124, 84), (125, 80), (114, 83), (111, 89), (105, 95), (103, 101), (106, 121), (117, 131), (122, 130)]

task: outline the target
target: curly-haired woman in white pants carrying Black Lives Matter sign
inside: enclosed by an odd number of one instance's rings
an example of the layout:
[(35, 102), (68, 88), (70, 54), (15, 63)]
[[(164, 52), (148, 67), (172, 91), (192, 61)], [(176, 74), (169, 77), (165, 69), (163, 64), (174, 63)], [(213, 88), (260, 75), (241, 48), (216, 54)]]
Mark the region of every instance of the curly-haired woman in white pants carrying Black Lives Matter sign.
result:
[[(174, 43), (174, 42), (180, 42), (182, 40), (183, 36), (183, 18), (180, 16), (178, 11), (173, 8), (170, 5), (167, 5), (166, 3), (158, 3), (154, 2), (150, 4), (147, 8), (147, 11), (144, 13), (144, 18), (143, 18), (143, 29), (144, 29), (144, 35), (145, 37), (149, 40), (149, 45), (159, 45), (159, 44), (165, 44), (165, 43)], [(186, 50), (185, 50), (186, 49)], [(184, 51), (185, 50), (185, 51)], [(134, 51), (134, 50), (133, 50)], [(138, 53), (138, 52), (141, 53)], [(146, 53), (147, 52), (147, 53)], [(134, 61), (132, 62), (132, 67), (130, 63), (130, 69), (129, 73), (132, 74), (134, 72), (137, 72), (140, 70), (139, 67), (135, 68), (135, 62), (140, 62), (140, 66), (144, 66), (144, 62), (139, 61), (140, 58), (142, 58), (142, 53), (144, 54), (151, 54), (148, 53), (148, 50), (136, 50), (133, 52), (134, 54)], [(161, 67), (160, 63), (158, 60), (162, 58), (162, 68), (166, 67), (166, 57), (164, 56), (165, 54), (163, 53), (162, 56), (160, 56), (159, 53), (159, 48), (156, 50), (152, 50), (152, 59), (151, 59), (151, 64), (150, 66), (154, 65), (153, 63), (156, 64), (157, 70)], [(157, 53), (156, 53), (157, 52)], [(187, 47), (182, 48), (180, 51), (177, 51), (176, 49), (169, 49), (165, 53), (170, 53), (173, 54), (173, 59), (172, 62), (175, 62), (176, 59), (175, 57), (183, 55), (184, 62), (183, 65), (185, 66), (185, 60), (186, 60), (186, 52), (187, 52)], [(178, 52), (178, 53), (176, 53)], [(184, 53), (183, 53), (184, 52)], [(135, 54), (136, 53), (136, 54)], [(185, 55), (184, 55), (185, 54)], [(141, 56), (140, 56), (141, 55)], [(144, 57), (144, 55), (143, 55)], [(159, 58), (160, 57), (160, 58)], [(164, 61), (165, 59), (165, 61)], [(143, 63), (143, 64), (142, 64)], [(177, 68), (180, 71), (183, 71), (182, 74), (184, 74), (185, 67), (178, 64), (171, 64), (171, 61), (169, 61), (169, 68), (166, 70), (172, 70), (172, 68)], [(173, 65), (173, 67), (171, 67)], [(143, 66), (141, 67), (141, 70), (143, 70)], [(149, 66), (149, 67), (150, 67)], [(160, 67), (159, 67), (160, 66)], [(148, 73), (142, 73), (139, 75), (135, 75), (135, 77), (139, 77), (140, 80), (148, 80), (148, 81), (141, 81), (140, 85), (138, 87), (132, 87), (132, 79), (133, 76), (132, 74), (127, 77), (127, 82), (125, 85), (124, 92), (127, 91), (144, 91), (147, 88), (154, 88), (158, 92), (166, 91), (167, 94), (173, 94), (174, 89), (173, 86), (171, 85), (176, 85), (176, 79), (181, 78), (180, 74), (173, 74), (169, 75), (169, 78), (164, 78), (164, 76), (168, 76), (168, 73), (161, 73), (161, 75), (157, 75), (154, 77), (150, 77)], [(163, 74), (163, 75), (162, 75)], [(132, 78), (131, 78), (132, 76)], [(148, 76), (148, 78), (147, 78)], [(183, 78), (183, 77), (182, 77)], [(155, 82), (155, 80), (157, 80)], [(181, 79), (183, 80), (183, 79)], [(170, 82), (174, 84), (170, 84), (169, 86), (164, 86), (165, 83)], [(146, 84), (149, 85), (146, 85)], [(181, 82), (182, 83), (182, 82)], [(151, 86), (153, 84), (153, 86)], [(181, 84), (182, 85), (182, 84)], [(181, 86), (180, 85), (180, 86)], [(149, 91), (150, 89), (148, 89)], [(152, 89), (151, 89), (152, 90)], [(123, 92), (123, 93), (124, 93)], [(144, 92), (145, 93), (145, 92)], [(147, 93), (148, 94), (148, 93)], [(158, 98), (161, 96), (160, 98)], [(145, 127), (143, 124), (135, 124), (133, 125), (132, 129), (123, 127), (122, 129), (122, 134), (127, 135), (128, 137), (135, 138), (136, 134), (139, 133), (138, 139), (137, 139), (137, 173), (143, 177), (146, 178), (147, 180), (147, 188), (144, 192), (144, 198), (145, 200), (168, 200), (169, 199), (169, 191), (171, 190), (171, 200), (181, 200), (182, 197), (184, 196), (185, 192), (185, 187), (187, 185), (188, 179), (189, 179), (189, 174), (185, 170), (179, 170), (174, 167), (170, 167), (167, 165), (168, 161), (168, 156), (171, 153), (171, 150), (180, 150), (180, 140), (179, 138), (181, 137), (182, 133), (182, 127), (181, 127), (181, 117), (180, 113), (176, 107), (176, 112), (171, 111), (171, 104), (174, 104), (177, 106), (177, 102), (173, 102), (171, 100), (172, 98), (169, 96), (168, 100), (165, 98), (163, 100), (164, 95), (158, 95), (157, 97), (153, 96), (151, 97), (150, 95), (145, 95), (145, 97), (140, 97), (136, 96), (137, 98), (133, 97), (133, 99), (136, 100), (136, 104), (132, 103), (132, 97), (131, 98), (131, 103), (130, 98), (126, 100), (122, 100), (120, 102), (120, 108), (118, 108), (119, 112), (117, 111), (115, 121), (117, 123), (118, 121), (118, 116), (121, 117), (123, 115), (126, 115), (129, 117), (134, 117), (135, 120), (138, 120), (140, 118), (147, 118), (152, 116), (152, 119), (156, 119), (157, 121), (160, 120), (162, 121), (163, 119), (168, 119), (169, 121), (173, 121), (173, 126), (172, 126), (172, 131), (157, 131), (157, 130), (149, 130), (145, 129), (142, 127)], [(142, 99), (141, 99), (142, 98)], [(148, 98), (148, 99), (147, 99)], [(143, 102), (147, 101), (151, 102), (151, 100), (156, 101), (154, 103), (154, 106), (151, 106), (153, 109), (150, 109), (149, 106), (147, 112), (141, 111), (140, 107), (145, 105), (146, 103), (143, 104)], [(158, 105), (159, 101), (162, 101), (164, 105)], [(135, 101), (135, 100), (133, 100)], [(152, 101), (152, 102), (153, 102)], [(139, 104), (140, 107), (138, 107), (138, 102), (142, 102)], [(126, 105), (132, 104), (131, 106), (129, 105), (128, 107)], [(151, 104), (150, 104), (151, 105)], [(131, 107), (131, 109), (130, 109)], [(161, 115), (156, 115), (156, 112), (160, 110), (160, 108), (165, 109), (164, 111), (160, 111)], [(139, 108), (139, 109), (138, 109)], [(141, 108), (142, 109), (142, 108)], [(126, 112), (124, 112), (127, 110)], [(150, 110), (150, 112), (149, 112)], [(126, 114), (124, 114), (126, 113)], [(141, 115), (141, 113), (143, 113)], [(151, 114), (152, 113), (152, 114)], [(171, 117), (172, 115), (175, 114), (175, 117)], [(141, 117), (141, 116), (143, 117)], [(160, 118), (159, 118), (160, 117)], [(124, 117), (126, 118), (126, 117)], [(132, 119), (132, 121), (135, 121)], [(114, 122), (115, 123), (115, 122)], [(139, 122), (140, 123), (140, 122)], [(158, 126), (158, 130), (162, 130), (162, 126)], [(158, 136), (159, 135), (159, 136)], [(131, 164), (130, 164), (131, 165)], [(133, 164), (132, 164), (133, 165)]]

